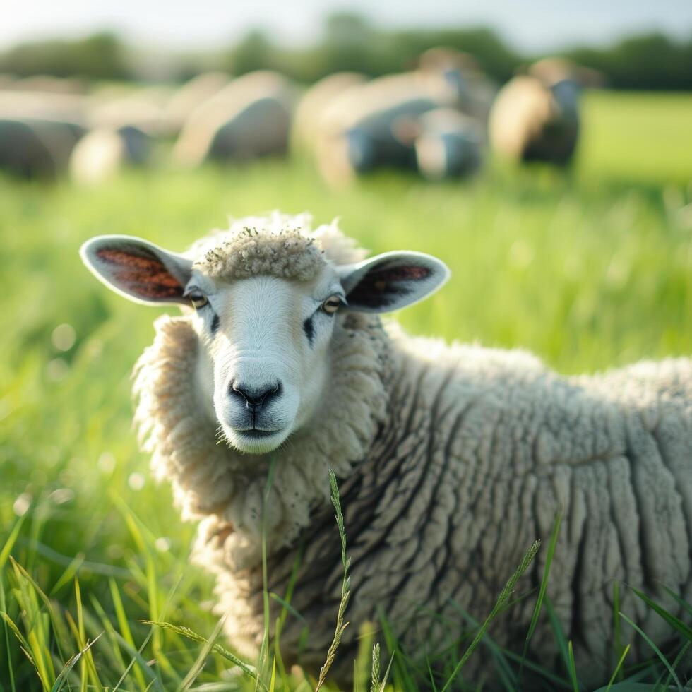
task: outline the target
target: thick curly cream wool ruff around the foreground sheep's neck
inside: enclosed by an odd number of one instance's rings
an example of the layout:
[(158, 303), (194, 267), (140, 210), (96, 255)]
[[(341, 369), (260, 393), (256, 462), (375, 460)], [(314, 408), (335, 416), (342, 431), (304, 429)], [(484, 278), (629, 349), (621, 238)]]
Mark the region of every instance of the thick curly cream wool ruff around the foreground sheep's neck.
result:
[[(220, 541), (226, 563), (261, 560), (263, 491), (270, 455), (247, 457), (219, 443), (197, 397), (200, 344), (187, 318), (163, 316), (135, 369), (136, 422), (159, 478), (172, 480), (184, 518), (208, 520), (201, 543)], [(364, 458), (386, 415), (388, 340), (378, 318), (345, 315), (333, 335), (330, 395), (314, 424), (278, 455), (268, 502), (269, 550), (297, 539), (328, 502), (328, 468), (345, 476)]]

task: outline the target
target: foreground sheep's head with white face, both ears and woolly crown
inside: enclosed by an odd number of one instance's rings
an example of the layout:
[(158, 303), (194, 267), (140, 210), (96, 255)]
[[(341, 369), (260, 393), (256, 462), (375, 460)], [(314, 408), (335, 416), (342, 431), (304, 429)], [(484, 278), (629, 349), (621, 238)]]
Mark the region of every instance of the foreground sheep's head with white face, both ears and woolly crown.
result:
[(339, 263), (357, 256), (350, 246), (344, 252), (340, 238), (340, 251), (330, 252), (323, 239), (297, 229), (246, 227), (181, 255), (138, 238), (100, 236), (81, 254), (124, 297), (183, 306), (200, 345), (201, 405), (234, 448), (262, 454), (317, 419), (330, 368), (338, 367), (329, 347), (344, 313), (399, 309), (448, 278), (441, 261), (414, 252)]

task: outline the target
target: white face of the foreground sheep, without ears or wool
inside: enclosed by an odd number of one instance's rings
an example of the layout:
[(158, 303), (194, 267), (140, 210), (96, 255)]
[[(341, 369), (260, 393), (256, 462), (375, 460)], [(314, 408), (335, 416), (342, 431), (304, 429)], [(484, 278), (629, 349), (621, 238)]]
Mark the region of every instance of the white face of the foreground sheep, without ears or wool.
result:
[(325, 268), (309, 282), (214, 282), (194, 273), (186, 293), (199, 304), (198, 382), (210, 414), (240, 451), (275, 449), (313, 418), (323, 395), (345, 301), (338, 275)]

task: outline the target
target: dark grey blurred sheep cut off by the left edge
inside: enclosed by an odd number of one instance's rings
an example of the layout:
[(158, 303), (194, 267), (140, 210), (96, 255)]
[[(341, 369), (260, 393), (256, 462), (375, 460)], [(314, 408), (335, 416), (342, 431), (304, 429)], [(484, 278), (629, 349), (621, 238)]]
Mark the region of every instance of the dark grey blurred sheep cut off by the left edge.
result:
[(0, 171), (25, 178), (54, 179), (84, 130), (72, 122), (5, 118), (0, 114)]

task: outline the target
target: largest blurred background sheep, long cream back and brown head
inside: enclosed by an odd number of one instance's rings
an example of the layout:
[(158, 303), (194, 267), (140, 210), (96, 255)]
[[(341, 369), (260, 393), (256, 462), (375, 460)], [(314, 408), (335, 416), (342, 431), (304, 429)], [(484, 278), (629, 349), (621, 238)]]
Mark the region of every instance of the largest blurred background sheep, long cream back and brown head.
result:
[[(472, 79), (468, 77), (472, 76)], [(474, 80), (483, 81), (475, 61), (449, 49), (422, 55), (417, 71), (389, 75), (354, 85), (330, 101), (317, 133), (318, 165), (324, 177), (338, 183), (379, 167), (417, 169), (410, 137), (402, 123), (439, 108), (458, 112), (487, 111), (484, 100), (470, 97)], [(494, 93), (489, 80), (488, 93)]]

